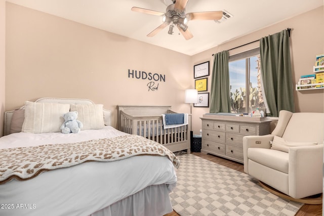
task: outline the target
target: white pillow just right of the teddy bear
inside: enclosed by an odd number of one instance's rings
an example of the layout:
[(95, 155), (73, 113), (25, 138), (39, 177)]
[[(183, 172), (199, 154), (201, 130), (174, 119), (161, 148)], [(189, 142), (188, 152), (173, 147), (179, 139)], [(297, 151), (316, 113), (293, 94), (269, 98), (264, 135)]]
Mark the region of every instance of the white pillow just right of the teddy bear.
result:
[(77, 111), (77, 120), (83, 123), (82, 130), (102, 129), (105, 126), (102, 104), (71, 104), (70, 111)]

